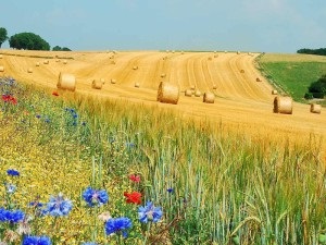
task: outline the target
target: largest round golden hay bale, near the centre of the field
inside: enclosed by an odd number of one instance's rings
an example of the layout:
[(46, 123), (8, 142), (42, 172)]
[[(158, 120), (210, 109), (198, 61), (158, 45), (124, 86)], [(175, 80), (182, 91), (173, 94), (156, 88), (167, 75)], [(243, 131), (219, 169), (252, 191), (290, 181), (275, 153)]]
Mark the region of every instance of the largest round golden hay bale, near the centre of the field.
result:
[(177, 105), (179, 100), (179, 88), (173, 84), (161, 82), (158, 89), (158, 101)]

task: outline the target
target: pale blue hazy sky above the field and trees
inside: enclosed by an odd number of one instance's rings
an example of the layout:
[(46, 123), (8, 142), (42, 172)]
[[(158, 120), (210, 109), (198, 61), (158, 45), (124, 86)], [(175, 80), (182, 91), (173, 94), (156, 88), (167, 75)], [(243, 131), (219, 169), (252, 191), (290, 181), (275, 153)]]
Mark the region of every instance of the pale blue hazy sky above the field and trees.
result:
[[(1, 0), (9, 36), (73, 50), (326, 48), (326, 0)], [(2, 48), (9, 48), (3, 44)]]

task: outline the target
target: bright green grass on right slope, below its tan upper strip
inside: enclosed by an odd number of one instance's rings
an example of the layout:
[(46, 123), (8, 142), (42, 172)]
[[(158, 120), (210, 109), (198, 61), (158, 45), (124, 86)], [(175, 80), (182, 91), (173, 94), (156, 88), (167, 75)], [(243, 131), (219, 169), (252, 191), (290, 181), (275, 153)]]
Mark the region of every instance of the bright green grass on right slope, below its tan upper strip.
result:
[(306, 102), (303, 97), (310, 84), (326, 74), (326, 62), (264, 61), (264, 57), (258, 61), (260, 70), (272, 84), (300, 102)]

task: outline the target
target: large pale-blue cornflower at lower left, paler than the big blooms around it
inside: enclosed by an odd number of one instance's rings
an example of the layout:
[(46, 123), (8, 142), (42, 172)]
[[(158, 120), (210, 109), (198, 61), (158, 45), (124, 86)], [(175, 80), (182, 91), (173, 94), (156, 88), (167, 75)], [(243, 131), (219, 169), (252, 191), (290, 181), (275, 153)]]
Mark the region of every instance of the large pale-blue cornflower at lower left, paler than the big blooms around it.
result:
[(63, 198), (63, 194), (58, 196), (51, 196), (47, 208), (43, 210), (45, 215), (50, 215), (54, 217), (67, 216), (73, 208), (73, 204), (70, 199)]

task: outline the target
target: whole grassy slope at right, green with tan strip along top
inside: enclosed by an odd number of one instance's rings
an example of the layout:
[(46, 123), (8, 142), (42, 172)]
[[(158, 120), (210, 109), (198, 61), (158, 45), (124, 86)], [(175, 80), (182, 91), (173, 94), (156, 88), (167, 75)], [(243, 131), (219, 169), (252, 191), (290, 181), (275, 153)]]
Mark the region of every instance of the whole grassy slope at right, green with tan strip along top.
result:
[(312, 82), (326, 74), (326, 58), (305, 54), (264, 54), (258, 59), (261, 71), (276, 87), (281, 88), (297, 101)]

